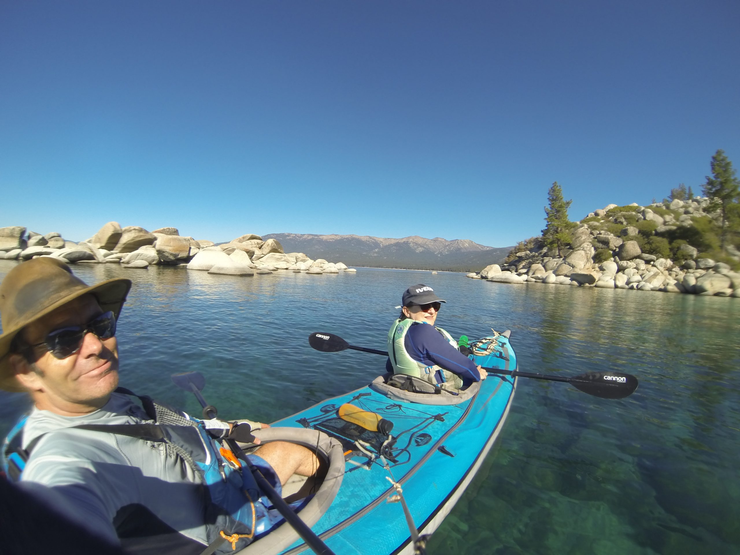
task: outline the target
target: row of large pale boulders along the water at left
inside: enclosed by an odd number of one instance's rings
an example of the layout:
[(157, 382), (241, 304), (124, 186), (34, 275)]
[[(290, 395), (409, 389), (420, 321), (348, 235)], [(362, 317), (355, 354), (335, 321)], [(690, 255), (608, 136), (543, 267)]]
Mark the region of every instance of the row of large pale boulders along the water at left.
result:
[(174, 227), (148, 232), (139, 226), (121, 228), (108, 222), (90, 239), (75, 243), (57, 232), (41, 235), (23, 226), (0, 227), (0, 260), (30, 260), (38, 256), (60, 258), (66, 263), (115, 263), (124, 268), (152, 265), (185, 266), (209, 274), (271, 275), (278, 270), (309, 275), (357, 272), (344, 263), (312, 260), (303, 252), (283, 252), (275, 239), (262, 240), (248, 233), (216, 245), (180, 235)]

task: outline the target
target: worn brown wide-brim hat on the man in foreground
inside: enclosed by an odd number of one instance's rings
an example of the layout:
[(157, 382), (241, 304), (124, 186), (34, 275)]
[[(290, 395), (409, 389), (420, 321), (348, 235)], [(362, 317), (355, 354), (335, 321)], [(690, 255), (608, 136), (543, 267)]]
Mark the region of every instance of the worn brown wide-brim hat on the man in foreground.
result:
[(0, 388), (24, 391), (10, 368), (10, 345), (25, 326), (60, 306), (88, 293), (97, 298), (104, 312), (121, 314), (131, 280), (118, 277), (87, 285), (70, 266), (57, 258), (39, 257), (20, 263), (0, 283)]

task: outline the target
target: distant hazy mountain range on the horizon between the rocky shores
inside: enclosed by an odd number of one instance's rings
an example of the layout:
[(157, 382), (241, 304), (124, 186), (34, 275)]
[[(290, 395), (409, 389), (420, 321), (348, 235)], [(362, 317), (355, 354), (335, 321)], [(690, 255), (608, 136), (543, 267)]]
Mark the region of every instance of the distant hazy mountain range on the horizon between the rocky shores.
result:
[(311, 235), (271, 233), (263, 239), (277, 239), (285, 252), (305, 252), (314, 260), (343, 262), (348, 266), (452, 270), (474, 272), (501, 262), (511, 246), (479, 245), (469, 239), (426, 239), (413, 235), (402, 239), (367, 235)]

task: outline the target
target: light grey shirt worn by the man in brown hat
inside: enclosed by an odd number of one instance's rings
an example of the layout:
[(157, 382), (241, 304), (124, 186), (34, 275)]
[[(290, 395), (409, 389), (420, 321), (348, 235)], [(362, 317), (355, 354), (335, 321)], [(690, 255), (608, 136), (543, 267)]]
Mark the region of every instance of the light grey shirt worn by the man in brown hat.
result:
[(64, 417), (36, 408), (23, 429), (33, 448), (20, 485), (93, 534), (118, 543), (113, 524), (143, 507), (166, 527), (206, 544), (201, 477), (164, 445), (72, 428), (80, 424), (149, 423), (129, 395), (114, 393), (101, 409)]

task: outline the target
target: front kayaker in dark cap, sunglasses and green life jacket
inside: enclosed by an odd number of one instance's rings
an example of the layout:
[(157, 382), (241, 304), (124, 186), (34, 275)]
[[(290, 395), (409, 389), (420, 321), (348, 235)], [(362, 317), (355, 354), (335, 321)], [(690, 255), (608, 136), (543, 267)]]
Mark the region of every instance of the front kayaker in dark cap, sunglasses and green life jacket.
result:
[(460, 353), (450, 334), (434, 326), (445, 302), (422, 283), (406, 289), (401, 314), (388, 332), (386, 369), (457, 391), (485, 380), (488, 374)]

